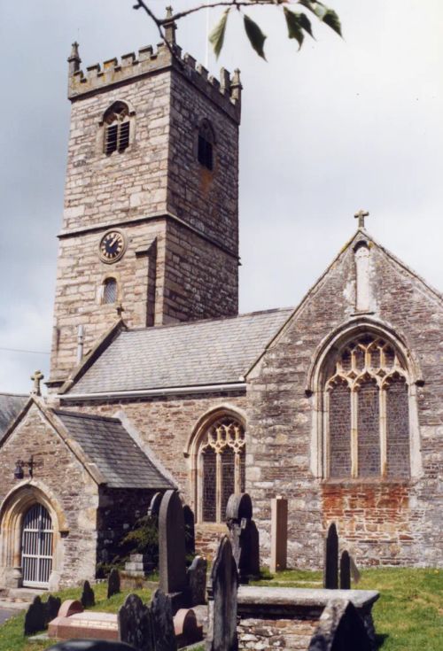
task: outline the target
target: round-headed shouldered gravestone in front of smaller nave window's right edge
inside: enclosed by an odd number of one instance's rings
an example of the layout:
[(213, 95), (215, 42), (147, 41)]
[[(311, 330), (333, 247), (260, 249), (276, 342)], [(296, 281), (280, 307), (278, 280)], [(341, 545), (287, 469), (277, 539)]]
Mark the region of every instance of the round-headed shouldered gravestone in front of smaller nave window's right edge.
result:
[(253, 502), (247, 492), (229, 497), (226, 523), (240, 583), (248, 583), (250, 577), (260, 577), (260, 541), (253, 521)]

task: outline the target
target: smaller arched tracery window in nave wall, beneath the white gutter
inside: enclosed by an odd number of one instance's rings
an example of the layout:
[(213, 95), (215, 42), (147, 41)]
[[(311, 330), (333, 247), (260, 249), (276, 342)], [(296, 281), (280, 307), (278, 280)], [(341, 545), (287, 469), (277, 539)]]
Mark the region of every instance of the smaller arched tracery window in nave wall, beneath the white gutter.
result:
[(227, 415), (209, 425), (199, 439), (198, 519), (224, 522), (233, 492), (245, 492), (245, 429)]

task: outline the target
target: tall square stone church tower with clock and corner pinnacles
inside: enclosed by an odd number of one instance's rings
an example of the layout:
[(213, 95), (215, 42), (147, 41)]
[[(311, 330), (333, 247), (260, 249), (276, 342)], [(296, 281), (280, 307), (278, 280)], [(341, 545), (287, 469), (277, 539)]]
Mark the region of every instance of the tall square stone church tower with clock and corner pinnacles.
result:
[(86, 74), (76, 43), (68, 58), (51, 390), (119, 315), (144, 328), (237, 314), (239, 74), (214, 79), (174, 23), (166, 34)]

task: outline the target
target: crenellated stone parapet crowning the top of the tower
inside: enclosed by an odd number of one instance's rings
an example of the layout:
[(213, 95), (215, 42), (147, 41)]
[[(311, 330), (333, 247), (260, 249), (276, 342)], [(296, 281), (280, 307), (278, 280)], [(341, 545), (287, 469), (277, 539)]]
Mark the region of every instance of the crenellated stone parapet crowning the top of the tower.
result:
[(150, 74), (159, 74), (162, 70), (175, 69), (183, 74), (193, 85), (210, 97), (215, 104), (228, 112), (237, 122), (240, 121), (241, 91), (240, 71), (229, 74), (221, 68), (220, 80), (209, 74), (204, 66), (198, 64), (190, 54), (183, 54), (182, 49), (173, 43), (169, 49), (166, 43), (159, 43), (157, 48), (146, 45), (135, 52), (123, 54), (120, 61), (110, 58), (103, 64), (87, 66), (86, 74), (80, 68), (78, 43), (73, 43), (68, 75), (68, 98), (74, 102), (82, 97), (103, 92), (113, 86), (130, 83)]

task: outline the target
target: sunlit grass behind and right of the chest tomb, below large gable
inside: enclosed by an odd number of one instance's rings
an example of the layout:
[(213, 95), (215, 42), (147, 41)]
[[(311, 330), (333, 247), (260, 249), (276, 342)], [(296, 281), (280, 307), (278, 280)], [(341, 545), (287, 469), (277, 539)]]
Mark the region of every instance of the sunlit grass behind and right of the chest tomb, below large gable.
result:
[[(319, 587), (321, 572), (286, 570), (264, 574), (255, 585)], [(443, 649), (443, 570), (362, 570), (361, 590), (378, 590), (372, 610), (380, 651)]]

